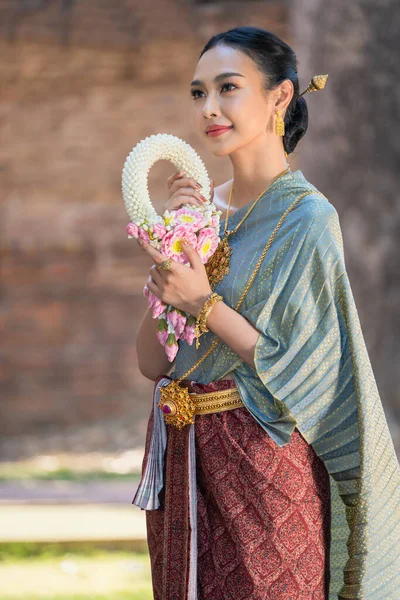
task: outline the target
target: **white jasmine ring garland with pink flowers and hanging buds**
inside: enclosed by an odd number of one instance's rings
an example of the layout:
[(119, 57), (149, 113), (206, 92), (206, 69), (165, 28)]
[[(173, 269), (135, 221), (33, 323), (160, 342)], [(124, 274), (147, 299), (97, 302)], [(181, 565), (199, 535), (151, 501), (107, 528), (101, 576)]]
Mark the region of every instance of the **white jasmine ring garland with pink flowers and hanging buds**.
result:
[[(158, 215), (150, 199), (148, 173), (158, 160), (169, 160), (202, 185), (207, 202), (201, 207), (182, 205), (178, 210)], [(221, 211), (210, 201), (210, 180), (206, 167), (194, 148), (184, 140), (160, 133), (139, 142), (126, 158), (122, 171), (122, 195), (131, 222), (126, 226), (128, 238), (141, 238), (160, 250), (165, 256), (188, 264), (182, 249), (182, 239), (199, 253), (203, 264), (215, 252), (219, 238)], [(169, 361), (178, 351), (178, 340), (193, 343), (195, 318), (188, 313), (166, 305), (147, 286), (144, 295), (158, 318), (157, 337), (165, 347)]]

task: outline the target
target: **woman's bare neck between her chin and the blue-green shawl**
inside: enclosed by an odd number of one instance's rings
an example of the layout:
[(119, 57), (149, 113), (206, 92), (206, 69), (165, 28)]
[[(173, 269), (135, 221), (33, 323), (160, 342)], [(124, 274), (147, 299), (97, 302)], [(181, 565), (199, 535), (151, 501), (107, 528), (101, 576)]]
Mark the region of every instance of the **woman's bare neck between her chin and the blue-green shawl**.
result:
[(254, 200), (282, 173), (288, 163), (282, 138), (263, 135), (229, 155), (234, 188), (231, 206), (240, 208)]

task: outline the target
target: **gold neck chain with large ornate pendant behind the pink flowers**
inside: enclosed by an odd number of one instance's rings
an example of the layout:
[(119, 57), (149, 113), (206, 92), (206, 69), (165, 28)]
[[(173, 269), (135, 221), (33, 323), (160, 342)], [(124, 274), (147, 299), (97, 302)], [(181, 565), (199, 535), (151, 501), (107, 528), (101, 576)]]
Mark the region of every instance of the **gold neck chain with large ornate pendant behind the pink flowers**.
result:
[(231, 229), (230, 231), (228, 231), (228, 218), (230, 216), (229, 211), (231, 208), (232, 192), (233, 192), (233, 181), (232, 181), (231, 189), (229, 192), (228, 208), (226, 210), (226, 215), (225, 215), (224, 237), (219, 242), (214, 254), (210, 257), (210, 259), (207, 261), (207, 263), (205, 265), (208, 280), (210, 282), (210, 286), (211, 286), (212, 290), (214, 290), (217, 283), (222, 281), (222, 279), (229, 273), (232, 247), (229, 245), (228, 237), (230, 235), (233, 235), (234, 233), (236, 233), (236, 231), (239, 229), (239, 227), (242, 225), (242, 223), (247, 219), (247, 217), (249, 216), (249, 214), (251, 213), (253, 208), (255, 208), (257, 202), (260, 200), (260, 198), (262, 198), (262, 196), (264, 196), (264, 194), (272, 186), (272, 184), (275, 183), (275, 181), (277, 179), (279, 179), (280, 177), (283, 177), (283, 175), (286, 175), (286, 173), (288, 173), (289, 171), (290, 171), (290, 167), (287, 167), (284, 171), (279, 173), (279, 175), (274, 177), (274, 179), (271, 181), (271, 183), (268, 184), (268, 186), (265, 188), (265, 190), (263, 190), (261, 192), (261, 194), (259, 196), (257, 196), (257, 198), (254, 200), (254, 202), (250, 206), (250, 208), (247, 210), (244, 217), (236, 225), (236, 227), (234, 229)]

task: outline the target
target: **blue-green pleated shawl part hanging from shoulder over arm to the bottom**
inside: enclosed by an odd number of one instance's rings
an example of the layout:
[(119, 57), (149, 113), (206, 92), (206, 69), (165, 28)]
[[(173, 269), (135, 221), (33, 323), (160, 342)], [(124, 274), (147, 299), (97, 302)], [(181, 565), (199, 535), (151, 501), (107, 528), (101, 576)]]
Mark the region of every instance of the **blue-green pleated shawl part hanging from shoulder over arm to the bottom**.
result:
[[(315, 207), (298, 222), (254, 320), (261, 334), (255, 367), (331, 476), (330, 600), (398, 600), (400, 468), (346, 273), (338, 215), (326, 201)], [(245, 315), (250, 321), (255, 308)]]

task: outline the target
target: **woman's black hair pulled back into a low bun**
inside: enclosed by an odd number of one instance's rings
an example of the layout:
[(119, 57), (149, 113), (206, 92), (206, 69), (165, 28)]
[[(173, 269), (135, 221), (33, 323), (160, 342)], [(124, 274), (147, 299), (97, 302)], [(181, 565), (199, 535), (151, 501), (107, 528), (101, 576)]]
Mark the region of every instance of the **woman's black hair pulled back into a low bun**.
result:
[[(294, 94), (285, 114), (283, 146), (290, 154), (307, 131), (307, 102), (299, 98), (297, 58), (292, 48), (277, 35), (259, 27), (235, 27), (214, 35), (208, 40), (200, 57), (218, 44), (237, 48), (254, 60), (265, 77), (265, 89), (274, 89), (285, 79), (290, 79)], [(199, 58), (200, 58), (199, 57)]]

